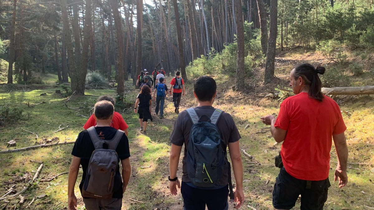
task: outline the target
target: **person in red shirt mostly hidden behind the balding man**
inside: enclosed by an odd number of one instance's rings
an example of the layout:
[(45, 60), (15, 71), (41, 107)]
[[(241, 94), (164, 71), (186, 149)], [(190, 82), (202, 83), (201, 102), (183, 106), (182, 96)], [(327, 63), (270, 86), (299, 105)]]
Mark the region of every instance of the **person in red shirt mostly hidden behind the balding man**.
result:
[[(97, 102), (99, 101), (109, 101), (114, 105), (116, 105), (116, 99), (114, 99), (113, 97), (111, 96), (100, 96), (99, 99), (97, 100)], [(88, 118), (86, 124), (83, 126), (84, 129), (89, 129), (89, 127), (92, 127), (92, 126), (96, 126), (96, 119), (95, 119), (95, 115), (91, 115), (90, 118)], [(129, 126), (126, 124), (125, 120), (123, 120), (123, 117), (121, 114), (119, 114), (118, 112), (114, 112), (113, 114), (113, 120), (112, 122), (110, 123), (110, 127), (113, 127), (117, 130), (122, 130), (123, 132), (125, 132), (126, 136), (129, 135), (129, 132), (128, 132), (128, 128)]]

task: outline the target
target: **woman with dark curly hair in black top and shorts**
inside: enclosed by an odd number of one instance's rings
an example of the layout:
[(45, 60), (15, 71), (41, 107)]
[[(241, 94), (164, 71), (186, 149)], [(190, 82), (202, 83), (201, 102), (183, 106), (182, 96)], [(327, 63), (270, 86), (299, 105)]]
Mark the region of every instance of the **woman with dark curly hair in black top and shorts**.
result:
[[(152, 121), (151, 115), (152, 96), (151, 90), (148, 86), (144, 85), (141, 87), (140, 93), (137, 96), (135, 102), (134, 112), (139, 114), (140, 132), (146, 134), (148, 120)], [(144, 129), (143, 129), (144, 126)]]

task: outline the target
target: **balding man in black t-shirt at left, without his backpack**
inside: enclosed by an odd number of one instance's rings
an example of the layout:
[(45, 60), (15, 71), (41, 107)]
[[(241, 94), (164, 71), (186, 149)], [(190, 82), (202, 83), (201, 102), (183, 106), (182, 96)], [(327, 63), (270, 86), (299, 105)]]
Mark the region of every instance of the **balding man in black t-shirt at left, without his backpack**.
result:
[[(100, 101), (95, 104), (94, 116), (96, 119), (95, 130), (99, 138), (105, 140), (111, 140), (116, 135), (117, 129), (110, 127), (111, 120), (113, 118), (114, 107), (108, 101)], [(86, 172), (89, 165), (89, 161), (92, 152), (95, 150), (95, 146), (90, 138), (87, 130), (79, 133), (78, 138), (74, 144), (73, 160), (71, 161), (69, 180), (68, 180), (68, 208), (69, 210), (76, 210), (77, 198), (74, 194), (74, 186), (77, 180), (79, 165), (82, 165), (83, 175), (82, 180), (79, 185), (80, 192), (82, 194), (83, 183), (86, 178)], [(99, 210), (99, 209), (113, 209), (120, 210), (122, 207), (122, 197), (123, 193), (126, 191), (126, 187), (129, 183), (131, 175), (131, 165), (130, 165), (130, 151), (129, 151), (129, 141), (126, 135), (122, 135), (120, 139), (116, 152), (118, 155), (118, 161), (121, 161), (122, 165), (122, 180), (121, 186), (117, 186), (118, 190), (113, 192), (111, 199), (99, 199), (99, 198), (85, 198), (83, 197), (83, 202), (87, 210)], [(119, 173), (119, 167), (117, 167), (117, 172)]]

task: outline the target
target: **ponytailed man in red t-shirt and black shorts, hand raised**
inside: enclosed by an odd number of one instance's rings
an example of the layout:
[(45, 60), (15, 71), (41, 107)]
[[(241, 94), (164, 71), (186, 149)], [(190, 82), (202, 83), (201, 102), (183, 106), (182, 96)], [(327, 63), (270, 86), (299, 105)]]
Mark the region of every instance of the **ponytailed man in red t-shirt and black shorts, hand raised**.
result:
[(283, 167), (279, 166), (273, 191), (275, 209), (292, 209), (299, 195), (300, 209), (323, 209), (330, 186), (332, 140), (338, 156), (334, 180), (339, 180), (340, 188), (348, 182), (346, 126), (338, 104), (321, 92), (318, 74), (324, 73), (324, 67), (297, 65), (289, 83), (295, 96), (282, 102), (277, 119), (273, 115), (261, 117), (263, 123), (271, 125), (275, 141), (283, 142)]

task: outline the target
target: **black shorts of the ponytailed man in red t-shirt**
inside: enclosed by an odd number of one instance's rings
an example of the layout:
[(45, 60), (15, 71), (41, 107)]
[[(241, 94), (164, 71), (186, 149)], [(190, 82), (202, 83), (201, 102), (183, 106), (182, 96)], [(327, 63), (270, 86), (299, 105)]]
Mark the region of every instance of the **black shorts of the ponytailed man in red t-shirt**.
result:
[(301, 195), (301, 210), (323, 210), (330, 187), (329, 179), (307, 181), (289, 175), (283, 167), (276, 178), (273, 190), (273, 207), (289, 210)]

